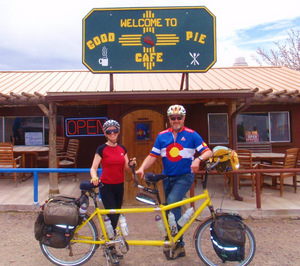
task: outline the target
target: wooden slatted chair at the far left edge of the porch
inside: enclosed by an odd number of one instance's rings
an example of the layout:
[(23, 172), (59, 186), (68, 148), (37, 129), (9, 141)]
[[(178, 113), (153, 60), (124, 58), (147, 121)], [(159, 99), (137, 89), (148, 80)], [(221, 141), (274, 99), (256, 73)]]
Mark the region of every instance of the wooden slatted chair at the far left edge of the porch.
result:
[[(19, 168), (22, 156), (14, 157), (14, 146), (11, 143), (0, 143), (0, 168)], [(17, 185), (17, 173), (13, 173)]]

